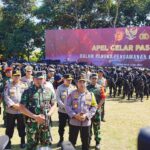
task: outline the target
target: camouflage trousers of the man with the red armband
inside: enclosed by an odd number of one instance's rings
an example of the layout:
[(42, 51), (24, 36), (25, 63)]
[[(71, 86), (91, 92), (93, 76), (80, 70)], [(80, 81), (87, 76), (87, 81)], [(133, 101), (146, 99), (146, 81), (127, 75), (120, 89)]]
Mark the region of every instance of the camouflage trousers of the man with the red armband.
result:
[(91, 124), (91, 137), (92, 137), (92, 128), (93, 128), (95, 141), (97, 144), (99, 144), (101, 141), (100, 122), (101, 122), (101, 111), (97, 110), (95, 115), (92, 118), (92, 124)]

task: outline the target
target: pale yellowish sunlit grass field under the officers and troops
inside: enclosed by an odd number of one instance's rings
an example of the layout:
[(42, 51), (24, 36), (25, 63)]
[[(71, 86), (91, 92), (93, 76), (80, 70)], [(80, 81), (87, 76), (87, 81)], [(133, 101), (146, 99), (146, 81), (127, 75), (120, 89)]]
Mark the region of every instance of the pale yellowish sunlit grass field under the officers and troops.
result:
[[(144, 102), (134, 99), (122, 100), (120, 98), (107, 99), (106, 101), (106, 122), (101, 124), (101, 149), (102, 150), (136, 150), (137, 136), (139, 129), (150, 125), (150, 100)], [(54, 127), (52, 128), (53, 149), (59, 140), (58, 137), (58, 115), (57, 110), (53, 115)], [(0, 116), (0, 125), (2, 116)], [(0, 127), (0, 135), (5, 133), (5, 129)], [(65, 140), (68, 139), (68, 127), (65, 130)], [(15, 130), (12, 138), (13, 150), (20, 150), (20, 139)], [(91, 150), (94, 149), (95, 141), (92, 138)], [(81, 140), (78, 136), (77, 150), (81, 149)]]

